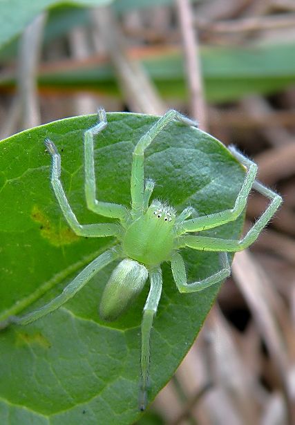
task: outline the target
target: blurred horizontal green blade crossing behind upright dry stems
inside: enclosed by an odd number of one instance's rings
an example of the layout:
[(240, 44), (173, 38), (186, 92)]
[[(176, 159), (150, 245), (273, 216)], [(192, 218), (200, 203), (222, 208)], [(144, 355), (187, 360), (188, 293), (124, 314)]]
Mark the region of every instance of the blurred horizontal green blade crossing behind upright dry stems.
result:
[[(295, 84), (294, 44), (201, 49), (206, 97), (209, 102), (229, 102), (251, 93), (276, 93)], [(142, 56), (142, 64), (166, 99), (187, 95), (183, 57), (175, 53)], [(56, 67), (57, 69), (57, 67)], [(2, 77), (0, 86), (10, 86), (12, 78)], [(72, 69), (44, 72), (39, 86), (90, 88), (104, 95), (119, 94), (113, 68), (109, 64), (73, 66)]]

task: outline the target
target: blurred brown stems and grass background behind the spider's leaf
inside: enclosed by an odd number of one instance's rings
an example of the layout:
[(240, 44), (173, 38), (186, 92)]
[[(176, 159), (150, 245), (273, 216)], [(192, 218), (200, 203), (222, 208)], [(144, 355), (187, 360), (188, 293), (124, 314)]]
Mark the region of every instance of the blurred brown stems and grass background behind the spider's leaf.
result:
[[(0, 23), (1, 138), (176, 108), (283, 194), (140, 424), (295, 424), (294, 0), (4, 0)], [(254, 193), (246, 227), (264, 207)]]

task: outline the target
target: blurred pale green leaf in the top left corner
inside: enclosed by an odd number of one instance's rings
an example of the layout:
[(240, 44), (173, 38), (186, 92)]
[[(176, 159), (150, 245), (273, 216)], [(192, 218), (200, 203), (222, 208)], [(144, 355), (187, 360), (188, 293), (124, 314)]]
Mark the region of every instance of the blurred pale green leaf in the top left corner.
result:
[(67, 3), (76, 6), (102, 6), (113, 0), (1, 0), (0, 2), (0, 47), (19, 35), (39, 13)]

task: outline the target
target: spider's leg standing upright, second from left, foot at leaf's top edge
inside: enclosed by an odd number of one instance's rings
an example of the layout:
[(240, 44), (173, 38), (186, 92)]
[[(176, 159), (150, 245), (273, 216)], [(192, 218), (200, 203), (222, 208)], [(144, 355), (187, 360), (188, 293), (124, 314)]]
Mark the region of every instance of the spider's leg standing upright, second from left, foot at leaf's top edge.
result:
[(102, 202), (96, 199), (96, 182), (94, 167), (93, 138), (104, 130), (108, 124), (106, 111), (99, 108), (97, 111), (98, 122), (84, 133), (84, 157), (85, 157), (85, 195), (88, 209), (101, 216), (119, 218), (122, 224), (126, 223), (128, 211), (124, 205), (111, 202)]

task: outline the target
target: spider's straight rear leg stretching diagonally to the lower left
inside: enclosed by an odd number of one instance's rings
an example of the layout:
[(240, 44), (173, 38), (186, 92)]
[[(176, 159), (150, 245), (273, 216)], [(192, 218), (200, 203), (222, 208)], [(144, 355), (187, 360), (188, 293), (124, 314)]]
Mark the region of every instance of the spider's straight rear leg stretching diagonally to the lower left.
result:
[[(119, 250), (118, 250), (119, 251)], [(57, 308), (61, 307), (64, 303), (66, 303), (69, 299), (73, 298), (75, 294), (79, 290), (86, 285), (88, 281), (90, 281), (99, 270), (102, 270), (102, 268), (106, 267), (109, 263), (111, 263), (114, 260), (117, 260), (117, 258), (120, 258), (120, 254), (116, 250), (116, 247), (113, 247), (113, 249), (108, 249), (108, 251), (103, 252), (101, 255), (99, 255), (95, 260), (91, 261), (90, 264), (86, 265), (84, 270), (78, 274), (78, 276), (75, 277), (73, 281), (71, 281), (59, 294), (55, 299), (51, 300), (46, 305), (43, 305), (43, 307), (38, 308), (37, 310), (30, 312), (22, 317), (17, 316), (11, 316), (9, 317), (8, 323), (15, 323), (17, 325), (28, 325), (28, 323), (32, 323), (33, 321), (40, 319), (41, 317), (46, 316), (46, 314), (53, 312), (54, 310), (57, 310)]]

